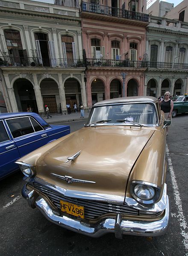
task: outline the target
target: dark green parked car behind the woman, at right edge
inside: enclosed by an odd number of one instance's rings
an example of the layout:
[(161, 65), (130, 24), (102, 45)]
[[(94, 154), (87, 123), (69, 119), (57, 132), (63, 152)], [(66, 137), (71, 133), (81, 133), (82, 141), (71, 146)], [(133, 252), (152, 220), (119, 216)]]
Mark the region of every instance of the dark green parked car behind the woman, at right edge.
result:
[(176, 117), (177, 114), (188, 112), (188, 95), (179, 96), (176, 101), (173, 102), (172, 117)]

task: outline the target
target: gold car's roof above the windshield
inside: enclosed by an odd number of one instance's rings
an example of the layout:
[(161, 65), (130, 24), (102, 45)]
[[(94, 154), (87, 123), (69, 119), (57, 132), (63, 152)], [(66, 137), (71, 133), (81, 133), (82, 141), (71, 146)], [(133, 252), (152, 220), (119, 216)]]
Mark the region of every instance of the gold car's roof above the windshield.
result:
[(99, 106), (103, 104), (112, 104), (112, 103), (129, 103), (129, 102), (156, 102), (158, 99), (156, 97), (150, 96), (133, 96), (133, 97), (122, 97), (115, 98), (110, 100), (103, 100), (94, 104), (94, 106)]

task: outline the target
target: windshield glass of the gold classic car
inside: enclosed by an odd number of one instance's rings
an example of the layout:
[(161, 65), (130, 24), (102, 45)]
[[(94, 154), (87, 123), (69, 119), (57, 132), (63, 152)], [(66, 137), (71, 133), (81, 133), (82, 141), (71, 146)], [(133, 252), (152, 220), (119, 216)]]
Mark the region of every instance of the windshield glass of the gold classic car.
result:
[[(87, 124), (99, 122), (100, 120), (108, 120), (106, 124), (121, 123), (122, 120), (127, 119), (138, 124), (157, 124), (156, 109), (150, 103), (131, 103), (118, 104), (110, 106), (96, 106), (92, 109), (90, 118)], [(103, 122), (104, 124), (105, 122)]]

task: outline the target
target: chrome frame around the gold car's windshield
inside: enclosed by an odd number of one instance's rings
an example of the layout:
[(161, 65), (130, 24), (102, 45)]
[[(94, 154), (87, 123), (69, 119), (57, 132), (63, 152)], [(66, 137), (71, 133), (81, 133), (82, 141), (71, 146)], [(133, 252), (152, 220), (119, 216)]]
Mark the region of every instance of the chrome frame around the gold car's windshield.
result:
[[(146, 104), (146, 103), (154, 105), (154, 108), (155, 108), (155, 111), (156, 111), (157, 123), (156, 124), (142, 124), (142, 125), (144, 127), (159, 127), (160, 126), (160, 124), (159, 124), (160, 123), (160, 116), (159, 116), (159, 112), (158, 112), (157, 107), (156, 107), (156, 102), (154, 102), (154, 101), (134, 101), (134, 102), (121, 102), (121, 103), (106, 103), (106, 104), (101, 104), (101, 105), (93, 106), (92, 109), (98, 108), (98, 107), (103, 107), (103, 106), (115, 106), (115, 105), (126, 105), (126, 104), (127, 105), (128, 104)], [(91, 113), (92, 113), (92, 111), (90, 112), (90, 114)], [(88, 120), (91, 119), (91, 116), (92, 115), (89, 115)], [(99, 125), (107, 125), (107, 124), (96, 124), (94, 126), (99, 126)], [(110, 125), (110, 124), (108, 123), (108, 125)], [(120, 124), (119, 123), (114, 123), (114, 125), (120, 125)], [(121, 125), (122, 125), (122, 123), (121, 123)], [(128, 124), (128, 125), (130, 126), (130, 124)], [(91, 125), (89, 125), (89, 123), (85, 124), (85, 127), (88, 127), (88, 126), (91, 126)]]

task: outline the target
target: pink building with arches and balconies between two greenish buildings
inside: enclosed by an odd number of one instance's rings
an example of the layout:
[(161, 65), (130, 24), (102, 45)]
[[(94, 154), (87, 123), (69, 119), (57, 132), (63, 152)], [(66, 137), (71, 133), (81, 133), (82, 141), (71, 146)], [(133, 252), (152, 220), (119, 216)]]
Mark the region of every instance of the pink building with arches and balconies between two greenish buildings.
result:
[(129, 4), (123, 0), (82, 2), (89, 108), (104, 99), (144, 95), (146, 26), (149, 18), (145, 13), (146, 0), (132, 0)]

